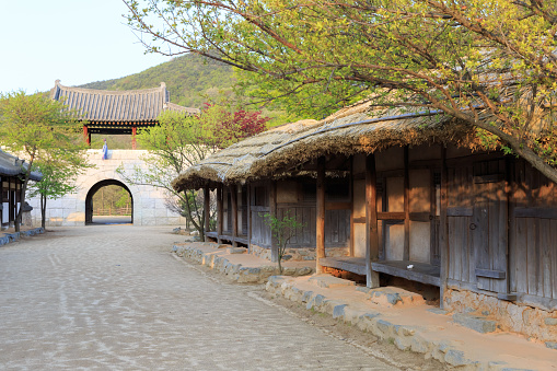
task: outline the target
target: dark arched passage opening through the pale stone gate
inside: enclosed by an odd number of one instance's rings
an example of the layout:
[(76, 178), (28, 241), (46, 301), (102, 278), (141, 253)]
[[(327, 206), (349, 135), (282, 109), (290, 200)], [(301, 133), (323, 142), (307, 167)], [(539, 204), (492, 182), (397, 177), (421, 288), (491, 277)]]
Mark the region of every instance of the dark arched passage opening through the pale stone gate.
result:
[(85, 225), (134, 223), (134, 196), (116, 179), (105, 179), (89, 189), (85, 197)]

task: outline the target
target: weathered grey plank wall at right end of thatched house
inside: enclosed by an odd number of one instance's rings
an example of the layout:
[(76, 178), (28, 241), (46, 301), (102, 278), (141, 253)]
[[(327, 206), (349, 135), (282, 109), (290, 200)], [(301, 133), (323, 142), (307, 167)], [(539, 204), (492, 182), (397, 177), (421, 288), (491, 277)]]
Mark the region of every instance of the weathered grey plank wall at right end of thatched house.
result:
[(448, 175), (452, 285), (557, 308), (556, 185), (500, 154), (449, 160)]

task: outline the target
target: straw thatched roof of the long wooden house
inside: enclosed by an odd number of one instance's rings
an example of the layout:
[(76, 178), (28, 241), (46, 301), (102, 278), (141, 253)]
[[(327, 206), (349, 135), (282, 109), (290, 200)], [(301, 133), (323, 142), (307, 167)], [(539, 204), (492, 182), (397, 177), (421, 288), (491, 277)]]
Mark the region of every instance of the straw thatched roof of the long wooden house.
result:
[(393, 146), (474, 142), (469, 126), (434, 113), (402, 113), (356, 105), (321, 120), (283, 125), (223, 149), (187, 169), (172, 183), (179, 189), (298, 175), (295, 165), (325, 154), (371, 153)]

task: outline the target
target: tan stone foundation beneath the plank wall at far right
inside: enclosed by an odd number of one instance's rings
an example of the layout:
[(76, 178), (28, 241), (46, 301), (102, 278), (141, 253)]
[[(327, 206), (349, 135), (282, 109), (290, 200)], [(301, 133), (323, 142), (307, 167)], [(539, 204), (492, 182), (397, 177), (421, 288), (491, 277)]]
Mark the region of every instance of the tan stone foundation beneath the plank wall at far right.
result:
[(466, 290), (448, 290), (443, 308), (495, 320), (500, 329), (523, 334), (548, 347), (557, 341), (557, 311), (548, 312)]

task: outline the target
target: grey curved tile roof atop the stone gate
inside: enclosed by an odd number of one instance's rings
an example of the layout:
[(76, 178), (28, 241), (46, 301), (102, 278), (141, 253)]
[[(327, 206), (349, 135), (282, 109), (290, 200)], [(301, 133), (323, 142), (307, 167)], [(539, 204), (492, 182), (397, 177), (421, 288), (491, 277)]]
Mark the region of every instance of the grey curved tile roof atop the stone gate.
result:
[(62, 101), (69, 109), (90, 121), (155, 121), (165, 109), (197, 114), (199, 109), (170, 102), (166, 84), (143, 90), (108, 91), (63, 86), (56, 80), (50, 98)]

